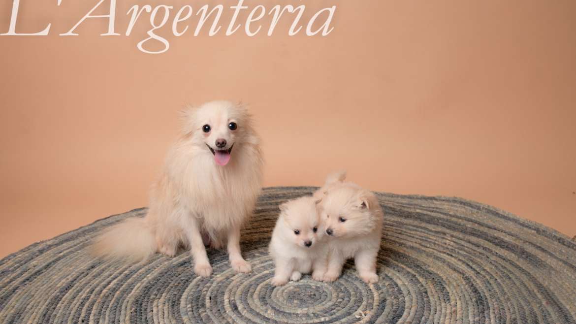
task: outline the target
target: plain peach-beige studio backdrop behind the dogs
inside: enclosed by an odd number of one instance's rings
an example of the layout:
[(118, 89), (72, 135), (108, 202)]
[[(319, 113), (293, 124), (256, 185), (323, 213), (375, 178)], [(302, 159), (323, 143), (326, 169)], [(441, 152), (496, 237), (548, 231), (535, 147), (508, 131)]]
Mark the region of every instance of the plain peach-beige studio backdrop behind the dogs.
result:
[[(21, 0), (17, 31), (51, 22), (50, 35), (0, 36), (0, 257), (145, 206), (177, 112), (213, 99), (251, 105), (264, 186), (319, 185), (347, 168), (373, 190), (455, 195), (576, 234), (572, 0), (262, 1), (305, 4), (304, 18), (336, 5), (335, 29), (290, 37), (285, 20), (270, 37), (175, 37), (168, 27), (160, 55), (136, 48), (145, 20), (123, 35), (139, 1), (118, 2), (123, 36), (98, 36), (104, 19), (58, 36), (96, 3)], [(11, 10), (0, 3), (1, 32)]]

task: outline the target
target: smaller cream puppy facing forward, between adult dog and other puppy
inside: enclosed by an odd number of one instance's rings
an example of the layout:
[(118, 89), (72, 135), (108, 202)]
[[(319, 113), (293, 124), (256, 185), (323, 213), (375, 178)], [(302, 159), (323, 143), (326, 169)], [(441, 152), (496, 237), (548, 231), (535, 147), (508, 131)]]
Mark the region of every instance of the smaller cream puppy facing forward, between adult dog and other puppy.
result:
[(328, 246), (321, 242), (325, 235), (316, 211), (318, 200), (301, 197), (280, 206), (269, 247), (275, 265), (272, 285), (300, 280), (310, 272), (314, 280), (323, 279)]

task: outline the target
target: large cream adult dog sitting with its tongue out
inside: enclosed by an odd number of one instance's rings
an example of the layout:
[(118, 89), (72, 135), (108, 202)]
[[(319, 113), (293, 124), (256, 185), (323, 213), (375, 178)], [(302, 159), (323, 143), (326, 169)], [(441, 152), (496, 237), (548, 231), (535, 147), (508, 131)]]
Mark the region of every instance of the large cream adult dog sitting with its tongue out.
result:
[(183, 246), (191, 249), (195, 273), (206, 277), (212, 268), (204, 244), (227, 245), (232, 268), (251, 271), (239, 242), (260, 193), (259, 144), (244, 106), (213, 101), (185, 111), (183, 132), (151, 190), (146, 217), (129, 218), (105, 231), (94, 251), (138, 261), (157, 251), (173, 256)]

